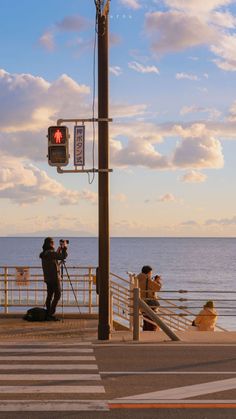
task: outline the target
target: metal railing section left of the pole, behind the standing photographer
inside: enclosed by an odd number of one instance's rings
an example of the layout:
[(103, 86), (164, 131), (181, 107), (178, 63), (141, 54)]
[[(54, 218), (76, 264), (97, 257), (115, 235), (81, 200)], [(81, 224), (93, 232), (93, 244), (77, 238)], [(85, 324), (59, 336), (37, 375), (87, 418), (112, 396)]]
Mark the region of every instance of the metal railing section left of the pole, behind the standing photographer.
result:
[[(96, 268), (67, 266), (70, 281), (66, 272), (63, 277), (63, 298), (58, 307), (67, 311), (76, 311), (77, 303), (73, 289), (79, 302), (81, 313), (97, 313), (98, 296), (96, 294)], [(22, 272), (22, 276), (19, 275)], [(32, 306), (43, 306), (46, 299), (46, 284), (43, 280), (42, 268), (38, 266), (0, 267), (0, 307), (4, 313), (23, 312)]]

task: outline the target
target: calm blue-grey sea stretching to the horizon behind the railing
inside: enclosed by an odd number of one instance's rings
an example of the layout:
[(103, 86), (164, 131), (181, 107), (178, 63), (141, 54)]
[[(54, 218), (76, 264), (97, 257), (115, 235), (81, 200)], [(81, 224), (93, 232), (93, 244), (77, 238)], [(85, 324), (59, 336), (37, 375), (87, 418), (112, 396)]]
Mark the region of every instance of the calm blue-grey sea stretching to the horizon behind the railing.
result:
[[(96, 238), (69, 240), (68, 265), (97, 266)], [(39, 266), (42, 243), (42, 238), (1, 238), (0, 266)], [(192, 298), (200, 297), (202, 302), (217, 298), (231, 300), (216, 303), (221, 313), (235, 315), (222, 317), (219, 323), (236, 329), (236, 301), (232, 301), (236, 300), (236, 239), (111, 239), (111, 272), (127, 277), (127, 271), (138, 273), (144, 264), (151, 265), (154, 273), (162, 275), (163, 290), (208, 291), (204, 296), (190, 294)], [(216, 290), (228, 293), (218, 295), (214, 293)]]

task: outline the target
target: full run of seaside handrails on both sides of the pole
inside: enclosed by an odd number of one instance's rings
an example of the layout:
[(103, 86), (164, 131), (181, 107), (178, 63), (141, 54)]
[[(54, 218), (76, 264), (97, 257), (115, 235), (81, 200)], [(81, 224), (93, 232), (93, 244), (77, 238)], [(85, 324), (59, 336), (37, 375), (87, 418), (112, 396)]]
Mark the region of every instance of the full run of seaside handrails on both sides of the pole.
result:
[[(46, 286), (43, 282), (43, 274), (41, 266), (27, 266), (30, 269), (30, 283), (26, 286), (21, 286), (16, 282), (16, 273), (13, 271), (20, 268), (19, 265), (14, 266), (0, 266), (0, 306), (5, 313), (8, 313), (13, 307), (28, 307), (32, 305), (43, 305), (46, 297)], [(89, 313), (97, 313), (98, 295), (96, 294), (95, 272), (96, 267), (90, 266), (68, 266), (70, 277), (73, 286), (76, 290), (76, 295), (79, 297), (81, 307), (88, 307)], [(116, 321), (121, 321), (130, 330), (133, 328), (133, 288), (134, 288), (135, 274), (130, 274), (129, 279), (122, 278), (122, 276), (115, 273), (110, 273), (110, 291), (112, 292), (112, 307), (113, 318)], [(70, 284), (64, 278), (64, 302), (65, 307), (73, 308), (74, 299), (70, 291)], [(184, 294), (183, 297), (175, 298), (176, 293)], [(236, 298), (227, 299), (224, 295), (231, 294), (234, 296), (236, 291), (222, 291), (222, 290), (161, 290), (158, 293), (158, 298), (161, 301), (159, 308), (159, 316), (165, 319), (165, 322), (173, 325), (175, 330), (181, 328), (186, 329), (191, 325), (191, 317), (195, 314), (191, 309), (197, 309), (199, 304), (188, 304), (189, 302), (200, 302), (204, 298), (192, 298), (192, 294), (196, 293), (203, 296), (205, 294), (221, 294), (218, 298), (214, 298), (216, 302), (234, 302)], [(168, 295), (166, 295), (168, 294)], [(173, 294), (173, 296), (171, 295)], [(167, 298), (165, 298), (165, 295)], [(177, 302), (181, 302), (178, 304)], [(184, 304), (183, 304), (184, 302)], [(190, 307), (189, 307), (190, 305)], [(219, 309), (224, 309), (219, 307)], [(228, 309), (228, 307), (227, 307)], [(232, 309), (230, 307), (229, 309)], [(232, 312), (223, 312), (220, 316), (232, 317)], [(217, 324), (218, 330), (225, 331), (226, 329)]]

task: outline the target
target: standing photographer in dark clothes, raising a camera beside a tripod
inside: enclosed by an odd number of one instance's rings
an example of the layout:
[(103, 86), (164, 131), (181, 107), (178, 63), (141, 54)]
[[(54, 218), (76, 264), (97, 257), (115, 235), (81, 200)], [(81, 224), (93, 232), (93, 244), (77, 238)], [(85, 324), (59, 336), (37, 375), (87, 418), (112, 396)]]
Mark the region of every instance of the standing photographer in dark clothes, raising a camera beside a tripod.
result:
[(60, 246), (55, 251), (54, 241), (46, 237), (43, 243), (43, 251), (39, 257), (42, 259), (44, 282), (47, 284), (46, 309), (49, 320), (57, 320), (54, 317), (56, 306), (61, 298), (60, 265), (59, 260), (67, 257), (67, 242), (60, 240)]

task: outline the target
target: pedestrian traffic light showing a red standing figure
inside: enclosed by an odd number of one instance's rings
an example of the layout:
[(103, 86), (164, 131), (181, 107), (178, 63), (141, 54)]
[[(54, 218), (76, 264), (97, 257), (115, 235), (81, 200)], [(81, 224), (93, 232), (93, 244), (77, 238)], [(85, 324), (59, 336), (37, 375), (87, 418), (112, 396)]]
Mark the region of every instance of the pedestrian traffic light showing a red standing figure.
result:
[(48, 128), (48, 164), (67, 166), (69, 163), (69, 130), (65, 126)]

